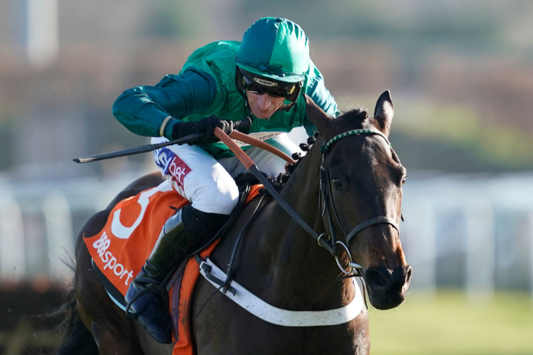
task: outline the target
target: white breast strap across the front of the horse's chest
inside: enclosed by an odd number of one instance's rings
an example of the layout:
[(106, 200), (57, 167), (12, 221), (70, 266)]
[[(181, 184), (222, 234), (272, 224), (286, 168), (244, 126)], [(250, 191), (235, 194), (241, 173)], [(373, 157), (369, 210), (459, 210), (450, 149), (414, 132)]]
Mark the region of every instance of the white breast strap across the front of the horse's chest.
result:
[[(211, 266), (211, 275), (220, 280), (225, 280), (226, 273), (212, 263), (209, 258), (207, 258), (204, 263)], [(202, 268), (200, 268), (200, 273), (205, 278), (205, 272)], [(213, 283), (208, 278), (205, 278), (205, 280), (208, 280), (216, 288), (219, 288), (219, 285)], [(247, 310), (252, 313), (252, 315), (261, 318), (266, 322), (283, 325), (285, 327), (320, 327), (323, 325), (337, 325), (350, 322), (350, 320), (355, 319), (355, 317), (360, 314), (363, 307), (361, 291), (357, 283), (355, 283), (355, 280), (353, 283), (355, 286), (355, 297), (352, 302), (345, 305), (345, 307), (325, 311), (282, 310), (281, 308), (274, 307), (273, 305), (264, 302), (235, 281), (232, 281), (231, 283), (232, 288), (235, 288), (237, 291), (235, 296), (229, 292), (225, 293), (225, 295), (230, 297), (230, 300), (237, 303), (237, 305), (244, 308), (244, 310)], [(222, 292), (222, 289), (220, 289), (220, 292)]]

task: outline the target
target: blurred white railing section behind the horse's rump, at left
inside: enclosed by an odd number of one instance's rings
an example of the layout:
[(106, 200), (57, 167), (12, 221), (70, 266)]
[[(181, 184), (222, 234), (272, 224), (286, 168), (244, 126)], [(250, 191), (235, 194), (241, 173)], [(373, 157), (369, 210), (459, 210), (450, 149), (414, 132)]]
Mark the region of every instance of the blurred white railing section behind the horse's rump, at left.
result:
[(68, 282), (78, 231), (135, 178), (0, 182), (0, 282)]

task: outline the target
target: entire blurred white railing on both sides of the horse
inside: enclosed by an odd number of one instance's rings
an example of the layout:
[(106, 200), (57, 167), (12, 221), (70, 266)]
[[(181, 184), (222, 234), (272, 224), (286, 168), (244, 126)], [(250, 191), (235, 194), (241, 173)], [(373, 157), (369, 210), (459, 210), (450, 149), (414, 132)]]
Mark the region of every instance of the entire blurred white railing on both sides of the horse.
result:
[[(410, 175), (400, 235), (413, 290), (533, 296), (533, 174)], [(70, 278), (77, 231), (134, 178), (0, 182), (0, 281)]]

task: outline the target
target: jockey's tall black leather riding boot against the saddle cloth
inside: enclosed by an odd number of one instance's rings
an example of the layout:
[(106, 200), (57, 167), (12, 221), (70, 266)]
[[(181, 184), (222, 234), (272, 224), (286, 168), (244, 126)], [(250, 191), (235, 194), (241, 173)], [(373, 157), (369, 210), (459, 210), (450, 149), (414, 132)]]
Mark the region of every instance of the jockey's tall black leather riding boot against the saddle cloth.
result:
[[(172, 320), (168, 312), (166, 283), (176, 267), (227, 220), (225, 214), (200, 212), (190, 204), (170, 217), (139, 275), (131, 281), (126, 293), (126, 312), (163, 344), (172, 342)], [(208, 225), (209, 227), (206, 227)]]

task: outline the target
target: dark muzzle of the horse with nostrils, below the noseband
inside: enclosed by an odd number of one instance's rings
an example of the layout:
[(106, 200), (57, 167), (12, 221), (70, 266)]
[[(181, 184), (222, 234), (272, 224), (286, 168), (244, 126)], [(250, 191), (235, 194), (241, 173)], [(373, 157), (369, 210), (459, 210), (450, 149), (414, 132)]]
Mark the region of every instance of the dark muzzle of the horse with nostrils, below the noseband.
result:
[(378, 310), (389, 310), (405, 300), (413, 269), (406, 265), (402, 268), (368, 268), (365, 280), (370, 303)]

